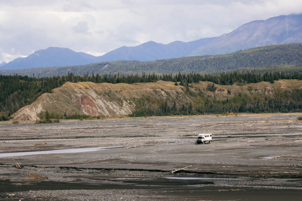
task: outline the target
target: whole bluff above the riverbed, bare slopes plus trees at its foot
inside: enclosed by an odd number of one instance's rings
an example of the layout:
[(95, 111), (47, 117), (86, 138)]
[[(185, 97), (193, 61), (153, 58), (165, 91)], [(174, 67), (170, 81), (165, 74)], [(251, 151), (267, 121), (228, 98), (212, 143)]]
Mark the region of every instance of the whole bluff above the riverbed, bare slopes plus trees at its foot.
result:
[[(38, 118), (104, 118), (241, 112), (302, 111), (302, 81), (278, 80), (217, 85), (175, 82), (65, 83), (44, 93), (31, 105), (14, 113), (15, 121)], [(46, 118), (47, 116), (47, 118)]]

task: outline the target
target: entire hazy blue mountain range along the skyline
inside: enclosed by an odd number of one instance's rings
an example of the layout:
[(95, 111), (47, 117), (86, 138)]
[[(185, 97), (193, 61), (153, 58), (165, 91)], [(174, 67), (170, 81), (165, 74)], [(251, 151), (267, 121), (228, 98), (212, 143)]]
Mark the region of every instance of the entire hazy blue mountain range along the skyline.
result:
[(219, 37), (191, 42), (161, 44), (153, 41), (134, 47), (120, 47), (96, 57), (68, 48), (49, 47), (25, 58), (17, 58), (0, 69), (22, 69), (91, 64), (102, 61), (154, 61), (193, 55), (216, 55), (259, 46), (302, 42), (302, 14), (280, 15), (255, 20)]

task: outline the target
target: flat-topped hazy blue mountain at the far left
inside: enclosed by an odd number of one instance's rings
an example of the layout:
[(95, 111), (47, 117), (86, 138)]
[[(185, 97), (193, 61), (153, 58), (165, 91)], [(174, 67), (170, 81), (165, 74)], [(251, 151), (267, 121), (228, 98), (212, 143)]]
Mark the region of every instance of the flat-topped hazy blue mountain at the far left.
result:
[(49, 47), (47, 49), (38, 50), (27, 57), (16, 58), (3, 65), (1, 69), (83, 65), (97, 62), (97, 59), (98, 57), (84, 52), (75, 52), (68, 48)]

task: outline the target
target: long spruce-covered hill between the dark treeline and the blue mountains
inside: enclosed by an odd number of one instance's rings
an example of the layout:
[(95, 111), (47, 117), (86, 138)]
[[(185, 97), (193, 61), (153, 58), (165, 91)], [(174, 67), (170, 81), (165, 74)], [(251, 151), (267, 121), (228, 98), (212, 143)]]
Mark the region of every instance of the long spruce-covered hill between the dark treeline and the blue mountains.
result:
[(3, 75), (40, 74), (41, 77), (57, 75), (67, 76), (68, 72), (75, 75), (84, 74), (141, 74), (142, 72), (156, 74), (169, 73), (215, 73), (238, 69), (269, 68), (266, 71), (282, 70), (287, 72), (299, 71), (302, 67), (302, 43), (263, 46), (242, 50), (225, 55), (192, 56), (157, 61), (112, 61), (88, 65), (31, 68), (18, 70), (2, 70)]

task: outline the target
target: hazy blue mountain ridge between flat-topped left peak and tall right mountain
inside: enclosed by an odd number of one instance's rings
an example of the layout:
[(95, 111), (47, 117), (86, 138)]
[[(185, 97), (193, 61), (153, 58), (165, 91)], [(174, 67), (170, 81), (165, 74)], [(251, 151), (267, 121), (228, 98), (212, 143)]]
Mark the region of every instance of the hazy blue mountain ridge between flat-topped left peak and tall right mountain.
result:
[(100, 56), (99, 61), (154, 61), (157, 59), (183, 57), (190, 54), (194, 49), (206, 45), (215, 38), (216, 37), (203, 38), (191, 42), (175, 41), (166, 45), (149, 41), (135, 47), (123, 46)]

